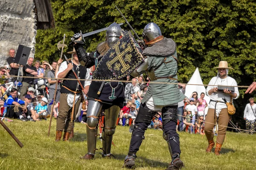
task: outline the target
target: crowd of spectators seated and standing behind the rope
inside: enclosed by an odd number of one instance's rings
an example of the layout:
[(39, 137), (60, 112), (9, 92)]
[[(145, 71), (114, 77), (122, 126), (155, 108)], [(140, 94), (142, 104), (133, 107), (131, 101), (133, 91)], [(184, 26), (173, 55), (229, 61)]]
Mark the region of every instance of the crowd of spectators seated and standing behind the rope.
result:
[[(15, 61), (15, 50), (10, 49), (6, 65), (0, 67), (1, 119), (7, 122), (12, 122), (13, 119), (20, 119), (23, 122), (47, 120), (52, 107), (53, 116), (57, 118), (61, 81), (51, 78), (56, 77), (55, 71), (60, 63), (60, 60), (58, 62), (53, 61), (52, 63), (46, 60), (42, 62), (34, 61), (32, 57), (29, 57), (26, 65), (19, 65)], [(22, 69), (21, 72), (23, 74), (18, 75), (19, 68)], [(88, 71), (92, 76), (93, 69), (90, 68)], [(10, 77), (12, 75), (23, 76), (24, 78)], [(143, 75), (134, 78), (127, 75), (126, 79), (131, 82), (125, 84), (125, 102), (124, 107), (120, 110), (118, 121), (118, 125), (123, 126), (135, 123), (140, 102), (148, 90), (148, 84), (144, 83)], [(56, 102), (53, 103), (56, 83)], [(178, 87), (180, 92), (185, 94), (186, 85), (179, 84)], [(194, 91), (189, 98), (186, 97), (186, 99), (178, 103), (178, 131), (204, 135), (204, 120), (207, 116), (205, 108), (208, 105), (204, 96), (204, 93), (198, 96), (198, 93)], [(246, 121), (247, 130), (254, 131), (256, 105), (253, 98), (250, 98), (249, 101), (250, 103), (246, 105), (244, 110), (244, 120)], [(86, 104), (88, 105), (88, 102)], [(87, 109), (81, 109), (81, 113), (77, 113), (76, 122), (86, 124), (86, 111)], [(162, 129), (160, 112), (154, 116), (148, 128)], [(251, 134), (253, 133), (251, 132)]]

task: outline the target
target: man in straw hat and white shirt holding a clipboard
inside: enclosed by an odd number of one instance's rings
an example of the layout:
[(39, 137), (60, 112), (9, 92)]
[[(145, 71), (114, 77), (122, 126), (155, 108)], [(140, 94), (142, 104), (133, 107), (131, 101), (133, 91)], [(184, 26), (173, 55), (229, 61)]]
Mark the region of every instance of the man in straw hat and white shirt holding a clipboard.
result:
[[(215, 145), (213, 141), (214, 134), (212, 132), (212, 129), (214, 128), (216, 122), (218, 122), (219, 126), (215, 147), (215, 155), (220, 155), (221, 146), (224, 142), (227, 125), (230, 119), (230, 115), (227, 111), (226, 102), (230, 102), (232, 98), (237, 99), (239, 97), (239, 91), (237, 87), (235, 87), (234, 90), (232, 90), (232, 87), (227, 87), (224, 88), (224, 90), (220, 90), (221, 87), (223, 88), (223, 85), (237, 86), (236, 80), (227, 75), (229, 69), (233, 69), (228, 67), (227, 61), (220, 61), (218, 67), (215, 68), (218, 68), (218, 74), (217, 76), (212, 77), (209, 82), (209, 85), (215, 86), (208, 86), (206, 89), (207, 96), (210, 96), (210, 102), (208, 105), (209, 110), (207, 113), (207, 118), (205, 120), (204, 131), (209, 143), (206, 152), (209, 153), (211, 152), (212, 147), (214, 147)], [(222, 86), (218, 87), (218, 85)], [(231, 89), (232, 91), (229, 89)]]

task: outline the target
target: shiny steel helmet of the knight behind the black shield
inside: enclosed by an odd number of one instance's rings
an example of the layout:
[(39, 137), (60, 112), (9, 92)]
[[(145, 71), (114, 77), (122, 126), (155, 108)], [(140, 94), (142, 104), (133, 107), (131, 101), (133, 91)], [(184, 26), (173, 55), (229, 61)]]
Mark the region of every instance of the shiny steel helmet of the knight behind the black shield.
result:
[(121, 27), (117, 23), (111, 24), (106, 32), (107, 43), (109, 47), (112, 47), (121, 36)]

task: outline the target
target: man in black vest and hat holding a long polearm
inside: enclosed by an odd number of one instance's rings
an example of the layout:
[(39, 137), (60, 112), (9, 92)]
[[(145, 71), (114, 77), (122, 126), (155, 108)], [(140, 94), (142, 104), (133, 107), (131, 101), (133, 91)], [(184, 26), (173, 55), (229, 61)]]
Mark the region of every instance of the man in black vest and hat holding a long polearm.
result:
[[(75, 74), (72, 71), (73, 68), (79, 79), (90, 79), (90, 73), (87, 72), (87, 69), (80, 64), (75, 49), (73, 48), (73, 51), (68, 52), (68, 54), (72, 54), (70, 63), (67, 64), (67, 61), (62, 62), (56, 77), (76, 79)], [(84, 94), (87, 94), (90, 81), (81, 81), (81, 84), (84, 85)], [(74, 126), (74, 121), (72, 120), (75, 120), (76, 113), (81, 103), (81, 91), (82, 88), (77, 80), (63, 80), (60, 91), (60, 107), (56, 125), (56, 142), (61, 139), (63, 130), (63, 140), (68, 141), (69, 139), (70, 133)]]

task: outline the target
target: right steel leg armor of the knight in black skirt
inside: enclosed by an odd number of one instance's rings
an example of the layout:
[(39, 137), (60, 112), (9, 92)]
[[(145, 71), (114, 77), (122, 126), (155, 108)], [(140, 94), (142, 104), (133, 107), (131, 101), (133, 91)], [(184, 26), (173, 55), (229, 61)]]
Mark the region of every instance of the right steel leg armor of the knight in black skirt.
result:
[(116, 131), (116, 121), (119, 112), (119, 106), (115, 105), (105, 110), (104, 127), (102, 130), (102, 154), (104, 156), (108, 156), (109, 154), (111, 154), (111, 143), (113, 139), (113, 134)]

